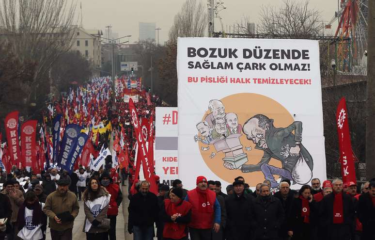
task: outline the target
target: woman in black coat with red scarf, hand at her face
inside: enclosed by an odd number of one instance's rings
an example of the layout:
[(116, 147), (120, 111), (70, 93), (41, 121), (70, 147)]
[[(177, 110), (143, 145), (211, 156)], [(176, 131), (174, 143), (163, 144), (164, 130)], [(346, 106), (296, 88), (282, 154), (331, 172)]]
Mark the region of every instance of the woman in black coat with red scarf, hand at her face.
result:
[(311, 240), (313, 217), (317, 214), (313, 195), (309, 185), (303, 185), (299, 190), (298, 198), (294, 198), (287, 216), (289, 237), (293, 240)]

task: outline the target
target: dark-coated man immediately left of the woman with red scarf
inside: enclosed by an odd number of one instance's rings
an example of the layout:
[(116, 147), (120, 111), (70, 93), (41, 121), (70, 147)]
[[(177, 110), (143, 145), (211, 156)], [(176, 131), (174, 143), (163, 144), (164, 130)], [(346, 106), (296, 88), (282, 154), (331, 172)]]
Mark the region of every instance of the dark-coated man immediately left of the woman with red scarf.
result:
[[(273, 196), (280, 200), (282, 208), (283, 208), (284, 213), (285, 213), (285, 216), (287, 216), (288, 213), (289, 213), (289, 210), (292, 206), (293, 199), (294, 199), (294, 192), (290, 191), (289, 183), (281, 182), (280, 183), (280, 191), (275, 192), (275, 194), (273, 194)], [(281, 224), (280, 231), (279, 231), (279, 237), (282, 240), (287, 240), (289, 238), (287, 223), (286, 223), (286, 217), (284, 218), (284, 221)]]

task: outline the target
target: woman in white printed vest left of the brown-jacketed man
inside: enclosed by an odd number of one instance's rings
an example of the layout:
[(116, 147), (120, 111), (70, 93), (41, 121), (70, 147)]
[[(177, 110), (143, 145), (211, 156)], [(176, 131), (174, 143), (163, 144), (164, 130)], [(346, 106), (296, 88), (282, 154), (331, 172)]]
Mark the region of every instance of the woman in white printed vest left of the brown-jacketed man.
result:
[(35, 192), (26, 193), (25, 201), (18, 210), (17, 236), (22, 240), (45, 240), (47, 216), (43, 213), (44, 203), (39, 202)]

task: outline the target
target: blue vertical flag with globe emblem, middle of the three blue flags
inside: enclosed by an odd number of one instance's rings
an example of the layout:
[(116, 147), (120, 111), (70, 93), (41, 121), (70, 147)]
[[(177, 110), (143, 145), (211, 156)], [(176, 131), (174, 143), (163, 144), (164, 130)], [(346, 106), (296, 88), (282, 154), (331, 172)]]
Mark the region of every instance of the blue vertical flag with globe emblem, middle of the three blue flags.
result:
[(69, 124), (65, 128), (63, 141), (61, 141), (60, 154), (57, 160), (58, 165), (63, 169), (67, 170), (68, 168), (68, 163), (70, 161), (68, 157), (73, 152), (81, 129), (82, 127), (77, 124)]

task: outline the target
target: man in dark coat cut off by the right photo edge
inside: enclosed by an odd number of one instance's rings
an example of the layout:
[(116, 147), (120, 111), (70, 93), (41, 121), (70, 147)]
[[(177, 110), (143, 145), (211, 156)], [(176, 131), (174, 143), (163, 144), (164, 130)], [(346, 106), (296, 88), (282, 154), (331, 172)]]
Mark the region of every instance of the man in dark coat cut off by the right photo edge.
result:
[(358, 218), (362, 223), (363, 231), (361, 240), (374, 240), (375, 231), (375, 182), (370, 182), (369, 191), (359, 196)]

